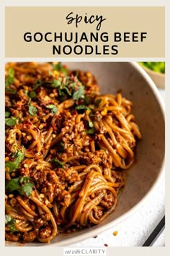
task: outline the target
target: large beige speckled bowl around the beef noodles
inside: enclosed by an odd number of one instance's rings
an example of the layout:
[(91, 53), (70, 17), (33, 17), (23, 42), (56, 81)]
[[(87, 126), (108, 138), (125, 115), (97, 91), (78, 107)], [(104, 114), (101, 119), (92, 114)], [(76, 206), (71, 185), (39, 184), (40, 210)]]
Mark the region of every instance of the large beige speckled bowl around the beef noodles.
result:
[(127, 171), (128, 178), (117, 208), (106, 220), (90, 229), (59, 234), (50, 244), (34, 242), (24, 244), (26, 246), (65, 246), (125, 221), (152, 192), (164, 167), (164, 108), (156, 85), (140, 65), (130, 62), (68, 62), (67, 66), (69, 69), (89, 70), (96, 76), (102, 93), (115, 94), (121, 89), (122, 95), (133, 101), (133, 113), (143, 140), (138, 142), (136, 161)]

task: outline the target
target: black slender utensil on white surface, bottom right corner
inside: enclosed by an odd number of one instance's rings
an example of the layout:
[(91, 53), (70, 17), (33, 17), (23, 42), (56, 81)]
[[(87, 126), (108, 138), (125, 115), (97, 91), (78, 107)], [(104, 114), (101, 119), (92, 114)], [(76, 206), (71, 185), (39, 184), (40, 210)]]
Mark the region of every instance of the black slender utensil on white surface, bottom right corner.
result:
[(156, 228), (153, 230), (153, 232), (151, 233), (151, 235), (148, 237), (148, 239), (146, 240), (146, 242), (143, 244), (144, 247), (146, 246), (152, 246), (153, 243), (156, 241), (156, 239), (158, 238), (158, 236), (160, 236), (161, 232), (164, 230), (165, 228), (165, 216), (161, 219), (161, 221), (158, 223), (158, 225), (156, 226)]

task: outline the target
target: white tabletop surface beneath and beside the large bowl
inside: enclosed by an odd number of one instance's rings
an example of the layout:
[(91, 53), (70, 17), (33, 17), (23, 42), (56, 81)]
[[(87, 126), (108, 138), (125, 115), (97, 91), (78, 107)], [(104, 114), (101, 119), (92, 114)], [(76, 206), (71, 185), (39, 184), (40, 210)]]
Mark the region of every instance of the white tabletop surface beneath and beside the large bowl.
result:
[[(160, 89), (159, 91), (163, 101), (165, 101), (165, 90)], [(112, 227), (112, 229), (99, 234), (97, 238), (91, 237), (82, 242), (71, 244), (71, 247), (103, 247), (104, 244), (107, 244), (109, 247), (142, 246), (164, 216), (164, 200), (165, 186), (163, 173), (153, 192), (148, 196), (140, 210), (134, 213), (133, 216)], [(117, 236), (112, 234), (114, 231), (118, 231)], [(165, 231), (162, 232), (153, 246), (165, 246)]]

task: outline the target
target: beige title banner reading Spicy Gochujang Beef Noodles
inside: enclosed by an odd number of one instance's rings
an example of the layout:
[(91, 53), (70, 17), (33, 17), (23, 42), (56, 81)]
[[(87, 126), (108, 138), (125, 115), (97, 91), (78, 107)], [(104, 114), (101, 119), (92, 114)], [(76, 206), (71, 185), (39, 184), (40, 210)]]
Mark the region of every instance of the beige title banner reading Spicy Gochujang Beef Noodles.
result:
[(164, 7), (6, 7), (6, 58), (164, 58)]

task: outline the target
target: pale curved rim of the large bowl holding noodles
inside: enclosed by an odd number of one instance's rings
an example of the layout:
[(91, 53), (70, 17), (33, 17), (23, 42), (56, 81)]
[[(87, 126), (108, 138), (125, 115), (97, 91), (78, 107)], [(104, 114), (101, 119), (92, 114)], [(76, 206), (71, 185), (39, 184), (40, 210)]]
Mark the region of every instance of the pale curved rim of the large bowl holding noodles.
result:
[[(102, 62), (102, 61), (100, 61)], [(108, 61), (109, 62), (109, 61)], [(115, 61), (116, 62), (116, 61)], [(151, 80), (151, 77), (149, 77), (149, 75), (145, 72), (145, 70), (143, 69), (143, 67), (140, 66), (140, 64), (138, 64), (135, 61), (130, 61), (128, 62), (128, 64), (130, 64), (131, 66), (133, 66), (140, 74), (143, 75), (143, 78), (146, 79), (146, 81), (148, 82), (148, 85), (150, 86), (151, 90), (153, 91), (153, 94), (156, 97), (156, 100), (159, 104), (159, 106), (161, 107), (161, 112), (162, 115), (164, 117), (165, 120), (165, 113), (164, 113), (164, 103), (163, 100), (161, 99), (161, 95), (158, 92), (158, 88), (156, 88), (155, 83), (153, 82), (153, 80)], [(165, 156), (164, 156), (165, 158)], [(50, 244), (39, 244), (39, 243), (33, 243), (34, 245), (30, 244), (23, 244), (23, 247), (43, 247), (43, 246), (50, 246), (50, 247), (63, 247), (63, 246), (68, 246), (71, 244), (74, 244), (76, 242), (80, 242), (82, 240), (85, 239), (89, 239), (90, 237), (96, 236), (104, 231), (107, 231), (107, 229), (111, 229), (113, 226), (116, 226), (118, 223), (125, 221), (127, 218), (129, 218), (130, 216), (132, 216), (135, 212), (137, 212), (137, 210), (139, 210), (141, 208), (141, 206), (146, 202), (146, 200), (148, 199), (148, 197), (151, 195), (151, 193), (154, 191), (154, 189), (156, 188), (159, 179), (161, 179), (162, 174), (164, 173), (164, 166), (165, 166), (165, 161), (163, 159), (162, 163), (161, 163), (161, 168), (160, 171), (158, 173), (158, 176), (155, 180), (155, 182), (153, 183), (152, 187), (148, 190), (148, 192), (146, 193), (146, 195), (136, 204), (134, 205), (132, 208), (130, 208), (130, 210), (128, 210), (128, 212), (123, 213), (122, 216), (115, 218), (115, 220), (113, 221), (109, 221), (109, 223), (104, 224), (104, 226), (98, 226), (96, 229), (92, 229), (89, 230), (89, 232), (86, 232), (84, 234), (78, 234), (76, 237), (71, 237), (71, 238), (66, 238), (63, 241), (59, 241), (59, 242), (51, 242)], [(54, 238), (55, 239), (55, 238)], [(76, 240), (76, 241), (75, 241)], [(11, 246), (11, 247), (16, 247), (18, 243), (13, 243), (13, 242), (6, 242), (6, 246)], [(36, 245), (35, 245), (36, 244)], [(19, 246), (21, 246), (21, 244), (19, 243)]]

